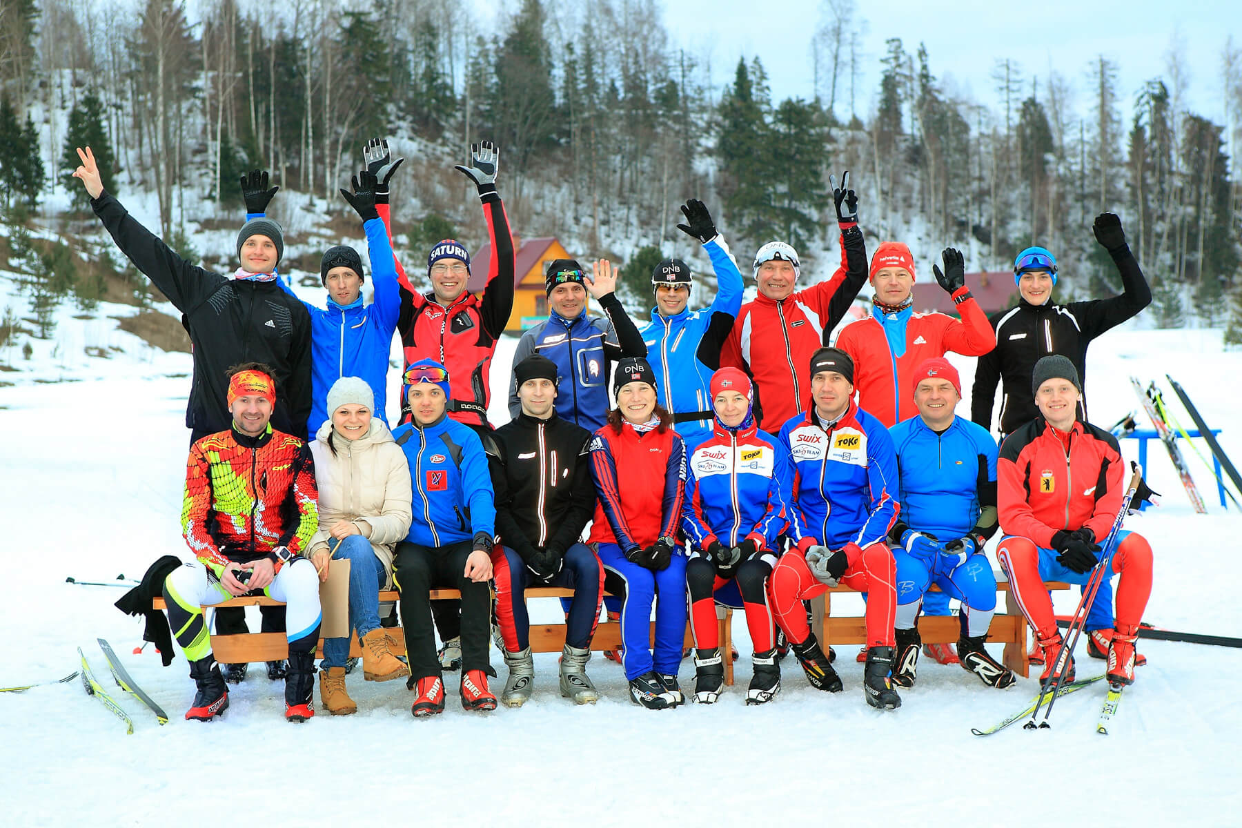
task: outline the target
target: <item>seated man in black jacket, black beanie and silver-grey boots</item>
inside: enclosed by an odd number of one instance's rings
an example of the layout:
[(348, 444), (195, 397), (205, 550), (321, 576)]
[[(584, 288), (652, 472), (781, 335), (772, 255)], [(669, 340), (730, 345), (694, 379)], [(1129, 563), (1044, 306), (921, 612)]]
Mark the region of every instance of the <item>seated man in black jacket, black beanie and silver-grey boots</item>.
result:
[(488, 446), (496, 531), (503, 544), (492, 552), (496, 617), (509, 668), (501, 701), (520, 708), (530, 698), (534, 660), (524, 592), (527, 586), (542, 585), (574, 590), (565, 619), (560, 694), (575, 704), (594, 704), (600, 696), (585, 668), (604, 600), (604, 566), (580, 542), (595, 511), (591, 433), (556, 416), (555, 362), (535, 354), (513, 372), (522, 411), (496, 430), (494, 444)]

